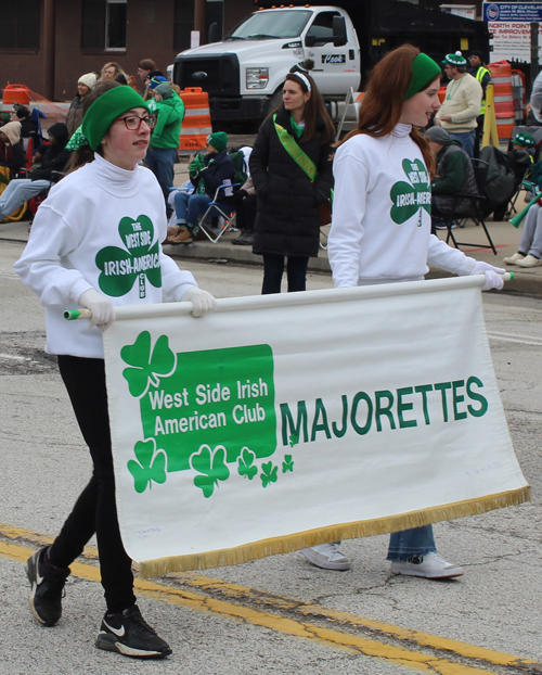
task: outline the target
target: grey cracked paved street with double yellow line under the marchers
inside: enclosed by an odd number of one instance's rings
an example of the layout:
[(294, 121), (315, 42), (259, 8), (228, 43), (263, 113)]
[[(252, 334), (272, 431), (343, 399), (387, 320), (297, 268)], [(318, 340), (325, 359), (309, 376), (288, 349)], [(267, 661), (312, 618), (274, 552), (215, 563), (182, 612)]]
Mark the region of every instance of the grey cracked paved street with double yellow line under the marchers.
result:
[[(173, 648), (167, 661), (142, 664), (93, 647), (104, 602), (92, 549), (74, 565), (59, 626), (37, 625), (28, 610), (24, 561), (60, 528), (90, 460), (54, 359), (42, 353), (42, 309), (12, 270), (23, 245), (0, 241), (1, 675), (542, 673), (542, 301), (485, 295), (532, 501), (436, 525), (440, 552), (463, 577), (392, 576), (387, 536), (377, 536), (344, 543), (348, 572), (295, 552), (140, 582), (143, 615)], [(179, 264), (217, 297), (260, 292), (260, 268)], [(308, 285), (332, 280), (313, 273)]]

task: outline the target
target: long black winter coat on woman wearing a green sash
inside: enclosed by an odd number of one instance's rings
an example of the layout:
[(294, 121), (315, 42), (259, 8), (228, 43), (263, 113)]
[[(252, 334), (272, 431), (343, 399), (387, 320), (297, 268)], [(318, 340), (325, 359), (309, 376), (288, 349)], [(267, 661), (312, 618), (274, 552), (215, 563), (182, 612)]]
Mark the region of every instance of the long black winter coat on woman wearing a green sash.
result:
[(322, 144), (324, 122), (320, 119), (308, 143), (299, 142), (282, 107), (276, 123), (299, 143), (317, 165), (318, 177), (311, 183), (307, 174), (291, 157), (274, 128), (273, 117), (262, 124), (250, 154), (250, 176), (258, 196), (253, 251), (257, 254), (317, 257), (320, 244), (320, 204), (333, 188), (332, 154)]

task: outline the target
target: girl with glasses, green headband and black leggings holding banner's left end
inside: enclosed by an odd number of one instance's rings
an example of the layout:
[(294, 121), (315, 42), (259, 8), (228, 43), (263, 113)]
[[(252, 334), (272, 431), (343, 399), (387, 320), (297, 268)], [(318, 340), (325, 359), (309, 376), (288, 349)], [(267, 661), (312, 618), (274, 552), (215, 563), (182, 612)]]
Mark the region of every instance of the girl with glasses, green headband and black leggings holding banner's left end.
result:
[[(152, 171), (139, 165), (156, 124), (145, 101), (130, 87), (102, 82), (85, 105), (72, 171), (41, 204), (15, 265), (46, 307), (46, 349), (57, 355), (93, 462), (60, 535), (28, 559), (30, 609), (42, 625), (60, 621), (69, 565), (95, 534), (107, 606), (95, 646), (160, 659), (171, 649), (136, 604), (117, 519), (102, 331), (115, 320), (115, 306), (160, 303), (164, 296), (192, 302), (198, 317), (215, 307), (215, 298), (162, 252), (164, 198)], [(63, 319), (74, 306), (90, 309), (89, 324)]]

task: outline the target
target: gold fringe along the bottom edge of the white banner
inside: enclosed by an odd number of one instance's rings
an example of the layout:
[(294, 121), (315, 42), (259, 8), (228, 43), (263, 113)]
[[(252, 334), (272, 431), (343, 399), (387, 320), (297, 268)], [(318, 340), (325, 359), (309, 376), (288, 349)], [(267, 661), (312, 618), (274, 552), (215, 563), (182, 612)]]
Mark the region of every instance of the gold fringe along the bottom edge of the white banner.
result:
[(253, 542), (235, 548), (224, 548), (222, 550), (194, 553), (190, 556), (172, 556), (170, 558), (156, 558), (155, 560), (144, 560), (141, 563), (140, 576), (152, 578), (163, 576), (169, 572), (185, 572), (189, 570), (209, 570), (225, 565), (235, 565), (258, 558), (276, 556), (278, 553), (289, 553), (301, 548), (325, 544), (327, 542), (338, 542), (339, 539), (356, 539), (359, 537), (371, 537), (376, 534), (388, 532), (400, 532), (411, 527), (421, 527), (429, 523), (437, 523), (443, 520), (465, 518), (486, 513), (495, 509), (503, 509), (509, 506), (517, 506), (525, 501), (530, 501), (531, 488), (526, 485), (518, 489), (513, 489), (496, 495), (488, 495), (477, 499), (465, 499), (439, 507), (411, 511), (398, 515), (388, 515), (374, 520), (365, 520), (357, 523), (345, 523), (331, 527), (319, 527), (308, 530), (297, 534), (289, 534), (283, 537), (273, 537)]

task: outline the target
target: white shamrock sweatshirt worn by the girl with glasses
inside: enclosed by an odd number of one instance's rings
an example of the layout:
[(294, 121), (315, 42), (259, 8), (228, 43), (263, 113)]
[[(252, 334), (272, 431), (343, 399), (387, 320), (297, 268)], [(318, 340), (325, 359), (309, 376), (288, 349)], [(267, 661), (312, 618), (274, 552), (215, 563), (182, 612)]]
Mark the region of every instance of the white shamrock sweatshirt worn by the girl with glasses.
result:
[(103, 358), (100, 329), (63, 318), (89, 289), (136, 305), (180, 301), (197, 285), (163, 253), (166, 231), (164, 195), (141, 166), (125, 170), (96, 154), (51, 190), (14, 266), (46, 307), (48, 353)]

